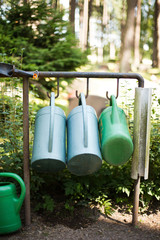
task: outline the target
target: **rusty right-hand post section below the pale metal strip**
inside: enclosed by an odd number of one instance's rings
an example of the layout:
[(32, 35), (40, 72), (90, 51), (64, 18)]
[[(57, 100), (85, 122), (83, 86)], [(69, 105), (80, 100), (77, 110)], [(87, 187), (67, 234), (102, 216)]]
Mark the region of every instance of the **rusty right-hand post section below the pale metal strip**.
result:
[(135, 180), (134, 182), (134, 200), (133, 200), (133, 216), (132, 216), (132, 224), (134, 226), (136, 226), (138, 223), (140, 181), (141, 181), (141, 177), (138, 176), (137, 180)]

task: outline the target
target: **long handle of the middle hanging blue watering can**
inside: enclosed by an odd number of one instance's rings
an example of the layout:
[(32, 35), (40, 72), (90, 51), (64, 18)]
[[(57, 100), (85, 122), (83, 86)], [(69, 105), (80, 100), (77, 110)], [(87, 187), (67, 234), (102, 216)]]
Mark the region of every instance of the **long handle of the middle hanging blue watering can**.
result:
[(83, 112), (83, 126), (84, 126), (84, 147), (88, 147), (88, 120), (87, 120), (87, 107), (84, 93), (80, 95), (80, 102), (82, 104)]

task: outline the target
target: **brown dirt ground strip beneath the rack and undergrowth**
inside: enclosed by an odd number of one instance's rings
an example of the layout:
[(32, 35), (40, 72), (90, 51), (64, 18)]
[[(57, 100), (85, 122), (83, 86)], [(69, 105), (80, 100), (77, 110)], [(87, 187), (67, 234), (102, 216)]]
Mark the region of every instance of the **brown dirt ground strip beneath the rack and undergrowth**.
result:
[[(28, 227), (0, 236), (2, 240), (160, 240), (160, 209), (139, 215), (138, 225), (133, 227), (132, 214), (116, 209), (110, 217), (97, 208), (77, 208), (72, 214), (43, 215), (32, 213)], [(22, 219), (23, 222), (23, 219)]]

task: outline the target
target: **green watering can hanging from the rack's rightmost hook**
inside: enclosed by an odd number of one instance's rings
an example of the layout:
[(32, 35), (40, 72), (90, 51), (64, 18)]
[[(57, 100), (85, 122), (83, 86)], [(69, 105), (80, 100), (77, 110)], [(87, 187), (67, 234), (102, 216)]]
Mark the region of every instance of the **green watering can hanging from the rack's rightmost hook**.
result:
[(101, 152), (103, 159), (113, 165), (125, 163), (133, 153), (133, 142), (129, 134), (126, 115), (117, 107), (115, 96), (111, 96), (110, 107), (99, 118)]

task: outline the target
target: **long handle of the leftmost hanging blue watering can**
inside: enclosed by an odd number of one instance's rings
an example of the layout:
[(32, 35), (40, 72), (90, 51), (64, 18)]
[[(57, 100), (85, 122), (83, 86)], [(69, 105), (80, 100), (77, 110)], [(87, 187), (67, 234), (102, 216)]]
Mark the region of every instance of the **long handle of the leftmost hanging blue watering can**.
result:
[(52, 152), (53, 146), (53, 132), (54, 132), (54, 111), (55, 111), (55, 94), (51, 93), (51, 106), (50, 106), (50, 123), (49, 123), (49, 144), (48, 152)]

